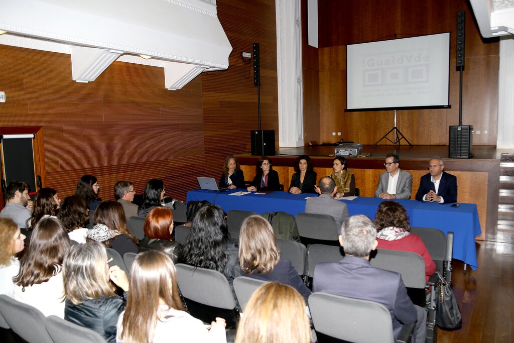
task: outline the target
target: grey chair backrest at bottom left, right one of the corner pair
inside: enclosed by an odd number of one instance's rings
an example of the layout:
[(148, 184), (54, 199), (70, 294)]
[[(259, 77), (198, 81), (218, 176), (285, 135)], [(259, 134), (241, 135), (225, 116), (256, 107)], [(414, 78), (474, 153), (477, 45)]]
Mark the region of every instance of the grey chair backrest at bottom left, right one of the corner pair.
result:
[(53, 343), (105, 343), (105, 339), (96, 331), (81, 327), (58, 316), (46, 317), (45, 327)]

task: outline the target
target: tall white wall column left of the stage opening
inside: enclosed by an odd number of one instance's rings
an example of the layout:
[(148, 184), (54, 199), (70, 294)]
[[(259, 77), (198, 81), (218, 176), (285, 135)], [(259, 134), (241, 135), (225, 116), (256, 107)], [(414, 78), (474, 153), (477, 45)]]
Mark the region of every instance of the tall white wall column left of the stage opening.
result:
[(276, 0), (279, 147), (303, 147), (301, 0)]

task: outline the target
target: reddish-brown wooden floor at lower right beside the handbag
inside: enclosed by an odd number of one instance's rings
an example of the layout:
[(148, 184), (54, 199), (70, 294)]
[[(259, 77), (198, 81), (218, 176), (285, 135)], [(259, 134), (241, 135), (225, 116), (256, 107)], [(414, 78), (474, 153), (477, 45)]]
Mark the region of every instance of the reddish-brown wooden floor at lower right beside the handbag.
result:
[(453, 292), (463, 326), (438, 330), (438, 343), (514, 342), (514, 244), (476, 242), (479, 268), (453, 265)]

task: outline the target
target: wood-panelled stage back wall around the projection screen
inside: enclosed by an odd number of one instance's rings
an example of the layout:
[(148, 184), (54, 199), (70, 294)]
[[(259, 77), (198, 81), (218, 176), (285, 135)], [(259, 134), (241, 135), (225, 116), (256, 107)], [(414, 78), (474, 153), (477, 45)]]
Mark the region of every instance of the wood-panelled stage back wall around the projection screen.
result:
[[(302, 5), (305, 142), (336, 142), (344, 138), (373, 144), (394, 126), (393, 111), (344, 113), (347, 44), (451, 32), (452, 108), (398, 111), (397, 120), (397, 127), (412, 144), (447, 145), (449, 125), (458, 124), (459, 112), (456, 14), (466, 11), (463, 124), (482, 132), (474, 135), (474, 145), (496, 145), (499, 43), (498, 39), (481, 38), (466, 0), (319, 1), (319, 49), (306, 44), (306, 0)], [(334, 137), (332, 132), (341, 132), (342, 136)]]

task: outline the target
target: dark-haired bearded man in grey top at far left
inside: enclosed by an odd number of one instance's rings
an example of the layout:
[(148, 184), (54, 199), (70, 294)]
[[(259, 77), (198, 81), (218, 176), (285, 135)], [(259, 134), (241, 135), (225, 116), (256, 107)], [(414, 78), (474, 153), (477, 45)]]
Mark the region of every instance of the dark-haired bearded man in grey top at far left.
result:
[(5, 189), (7, 204), (0, 212), (0, 216), (11, 218), (16, 225), (25, 229), (30, 225), (32, 202), (30, 201), (29, 185), (24, 182), (12, 180)]

